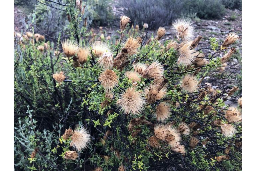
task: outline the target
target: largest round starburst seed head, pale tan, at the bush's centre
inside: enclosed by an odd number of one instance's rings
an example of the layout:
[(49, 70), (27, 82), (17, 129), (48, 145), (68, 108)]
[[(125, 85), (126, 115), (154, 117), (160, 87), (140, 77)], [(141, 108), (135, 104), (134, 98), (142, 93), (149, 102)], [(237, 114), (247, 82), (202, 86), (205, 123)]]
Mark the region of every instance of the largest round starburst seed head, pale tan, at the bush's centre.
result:
[(128, 88), (117, 100), (116, 104), (125, 114), (138, 114), (144, 109), (145, 99), (141, 91), (136, 91), (135, 87)]

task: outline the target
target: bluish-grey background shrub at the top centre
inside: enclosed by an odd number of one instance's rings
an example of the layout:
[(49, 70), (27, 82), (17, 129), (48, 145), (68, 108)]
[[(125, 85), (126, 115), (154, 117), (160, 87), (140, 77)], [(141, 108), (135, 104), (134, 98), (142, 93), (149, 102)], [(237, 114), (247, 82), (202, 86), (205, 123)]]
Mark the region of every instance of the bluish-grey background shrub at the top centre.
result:
[(158, 28), (170, 25), (173, 19), (181, 15), (183, 1), (122, 0), (120, 6), (133, 23), (143, 26), (144, 23), (154, 21), (152, 28)]

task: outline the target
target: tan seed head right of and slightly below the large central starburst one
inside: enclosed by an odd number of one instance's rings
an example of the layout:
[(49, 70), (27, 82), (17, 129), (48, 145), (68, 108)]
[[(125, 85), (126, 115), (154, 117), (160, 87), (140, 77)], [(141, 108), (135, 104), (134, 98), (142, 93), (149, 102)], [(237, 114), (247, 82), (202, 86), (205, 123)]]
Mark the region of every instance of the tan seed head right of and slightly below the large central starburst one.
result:
[(170, 118), (170, 105), (166, 102), (161, 102), (156, 107), (156, 118), (157, 121), (165, 122), (168, 118)]

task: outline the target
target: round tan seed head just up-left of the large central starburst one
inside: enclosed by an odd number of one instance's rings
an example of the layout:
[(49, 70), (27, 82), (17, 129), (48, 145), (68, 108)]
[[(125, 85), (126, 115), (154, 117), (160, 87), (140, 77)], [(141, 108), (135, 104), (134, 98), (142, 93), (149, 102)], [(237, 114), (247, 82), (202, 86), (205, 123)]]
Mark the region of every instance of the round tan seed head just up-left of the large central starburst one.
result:
[(118, 85), (118, 76), (113, 70), (107, 69), (100, 74), (99, 81), (105, 89), (112, 89)]

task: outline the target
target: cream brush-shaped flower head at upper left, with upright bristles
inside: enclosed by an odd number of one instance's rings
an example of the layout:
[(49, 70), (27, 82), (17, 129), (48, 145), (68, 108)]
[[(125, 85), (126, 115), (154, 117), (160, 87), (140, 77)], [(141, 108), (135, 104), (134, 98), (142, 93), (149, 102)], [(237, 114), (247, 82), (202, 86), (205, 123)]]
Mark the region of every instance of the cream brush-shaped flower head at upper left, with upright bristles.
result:
[(61, 44), (66, 57), (74, 56), (79, 50), (79, 45), (71, 40), (66, 39), (62, 41)]

